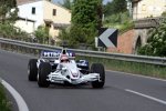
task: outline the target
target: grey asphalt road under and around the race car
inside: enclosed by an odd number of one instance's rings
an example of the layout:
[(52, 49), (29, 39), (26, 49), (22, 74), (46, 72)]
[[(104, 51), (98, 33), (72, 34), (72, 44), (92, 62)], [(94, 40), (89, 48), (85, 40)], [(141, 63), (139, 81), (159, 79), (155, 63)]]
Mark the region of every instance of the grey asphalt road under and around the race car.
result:
[(39, 88), (28, 81), (30, 58), (0, 50), (0, 77), (22, 95), (30, 111), (166, 111), (166, 81), (107, 71), (104, 89)]

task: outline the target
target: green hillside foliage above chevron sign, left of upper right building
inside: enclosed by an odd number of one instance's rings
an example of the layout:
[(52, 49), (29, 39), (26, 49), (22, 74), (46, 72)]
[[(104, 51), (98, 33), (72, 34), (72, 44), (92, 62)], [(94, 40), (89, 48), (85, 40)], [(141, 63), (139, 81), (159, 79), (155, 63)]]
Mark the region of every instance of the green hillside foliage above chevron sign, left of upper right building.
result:
[(132, 0), (113, 0), (103, 7), (104, 27), (118, 29), (120, 33), (134, 28), (134, 22), (127, 11), (127, 1), (132, 2)]

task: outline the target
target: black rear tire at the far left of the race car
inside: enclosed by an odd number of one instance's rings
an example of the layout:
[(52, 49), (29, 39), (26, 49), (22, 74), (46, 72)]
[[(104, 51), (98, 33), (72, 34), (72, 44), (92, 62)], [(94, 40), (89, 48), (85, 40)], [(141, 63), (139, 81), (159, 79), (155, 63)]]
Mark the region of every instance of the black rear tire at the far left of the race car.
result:
[(28, 78), (29, 81), (37, 81), (38, 68), (37, 68), (37, 59), (30, 59), (28, 64)]

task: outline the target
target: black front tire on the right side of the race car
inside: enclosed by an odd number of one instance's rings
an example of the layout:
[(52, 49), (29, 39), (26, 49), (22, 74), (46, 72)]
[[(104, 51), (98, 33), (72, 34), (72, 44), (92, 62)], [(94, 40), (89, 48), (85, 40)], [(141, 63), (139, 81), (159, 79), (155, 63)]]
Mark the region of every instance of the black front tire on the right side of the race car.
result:
[(103, 88), (104, 83), (105, 83), (105, 70), (104, 70), (104, 65), (101, 63), (93, 63), (91, 67), (91, 72), (92, 73), (100, 73), (100, 80), (93, 81), (92, 82), (92, 87), (93, 88)]

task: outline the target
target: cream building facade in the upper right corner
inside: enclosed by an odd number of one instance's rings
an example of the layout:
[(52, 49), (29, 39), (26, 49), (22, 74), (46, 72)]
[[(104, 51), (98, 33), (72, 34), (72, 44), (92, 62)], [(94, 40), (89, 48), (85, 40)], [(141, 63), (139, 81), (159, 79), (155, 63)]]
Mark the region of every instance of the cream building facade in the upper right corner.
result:
[(159, 17), (166, 11), (166, 0), (133, 0), (133, 19)]

